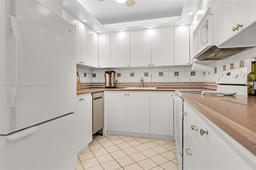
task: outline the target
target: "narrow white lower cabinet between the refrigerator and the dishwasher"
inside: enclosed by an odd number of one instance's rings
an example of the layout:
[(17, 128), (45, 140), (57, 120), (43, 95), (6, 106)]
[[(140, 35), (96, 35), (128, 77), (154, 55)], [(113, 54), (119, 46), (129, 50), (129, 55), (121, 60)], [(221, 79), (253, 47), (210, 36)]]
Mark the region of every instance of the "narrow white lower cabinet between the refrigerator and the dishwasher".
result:
[(92, 94), (77, 95), (77, 153), (92, 141)]

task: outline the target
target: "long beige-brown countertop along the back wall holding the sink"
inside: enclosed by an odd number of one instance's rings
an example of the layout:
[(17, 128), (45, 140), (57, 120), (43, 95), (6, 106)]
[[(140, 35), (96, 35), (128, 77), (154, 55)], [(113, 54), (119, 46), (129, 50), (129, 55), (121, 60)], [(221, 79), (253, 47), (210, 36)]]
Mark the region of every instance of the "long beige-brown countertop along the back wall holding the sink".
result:
[(76, 95), (82, 95), (86, 93), (96, 93), (100, 91), (175, 91), (175, 90), (212, 90), (209, 88), (202, 88), (202, 87), (157, 87), (156, 89), (124, 89), (122, 87), (118, 88), (84, 88), (81, 90), (76, 91)]

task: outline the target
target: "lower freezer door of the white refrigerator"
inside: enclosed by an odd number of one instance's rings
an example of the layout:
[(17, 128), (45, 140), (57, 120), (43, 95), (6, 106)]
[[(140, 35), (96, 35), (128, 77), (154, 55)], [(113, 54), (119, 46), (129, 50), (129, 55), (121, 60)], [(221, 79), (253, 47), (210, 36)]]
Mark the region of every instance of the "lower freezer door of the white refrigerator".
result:
[(76, 114), (36, 128), (38, 130), (24, 137), (23, 130), (0, 137), (0, 170), (74, 170), (77, 164)]

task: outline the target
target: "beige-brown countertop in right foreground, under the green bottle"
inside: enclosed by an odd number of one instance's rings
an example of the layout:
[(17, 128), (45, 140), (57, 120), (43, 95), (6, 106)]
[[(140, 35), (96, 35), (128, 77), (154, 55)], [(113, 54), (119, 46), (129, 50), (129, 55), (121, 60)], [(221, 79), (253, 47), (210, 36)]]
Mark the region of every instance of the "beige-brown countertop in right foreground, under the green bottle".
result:
[(182, 97), (256, 156), (256, 96), (184, 94)]

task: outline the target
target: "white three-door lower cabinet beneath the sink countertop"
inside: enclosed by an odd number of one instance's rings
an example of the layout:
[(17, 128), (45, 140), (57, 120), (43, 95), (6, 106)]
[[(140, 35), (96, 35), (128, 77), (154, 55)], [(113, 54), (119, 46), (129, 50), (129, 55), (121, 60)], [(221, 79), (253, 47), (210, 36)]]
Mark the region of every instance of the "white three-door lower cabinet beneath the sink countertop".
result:
[(107, 91), (106, 130), (140, 134), (174, 134), (171, 93)]

